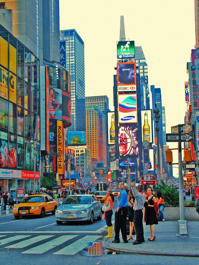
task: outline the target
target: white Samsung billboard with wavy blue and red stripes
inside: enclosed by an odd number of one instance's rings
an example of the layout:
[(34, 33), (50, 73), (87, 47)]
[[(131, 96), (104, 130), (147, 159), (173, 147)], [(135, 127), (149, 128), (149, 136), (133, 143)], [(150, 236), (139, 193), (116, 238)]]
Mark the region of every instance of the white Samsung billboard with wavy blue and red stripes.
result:
[(137, 94), (118, 95), (119, 123), (137, 123)]

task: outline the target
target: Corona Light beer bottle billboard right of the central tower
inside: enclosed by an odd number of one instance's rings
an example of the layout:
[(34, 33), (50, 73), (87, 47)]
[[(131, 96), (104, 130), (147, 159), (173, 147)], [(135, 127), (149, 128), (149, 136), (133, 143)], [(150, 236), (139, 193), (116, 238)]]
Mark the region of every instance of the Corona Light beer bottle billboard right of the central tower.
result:
[(141, 110), (142, 142), (153, 143), (152, 109)]

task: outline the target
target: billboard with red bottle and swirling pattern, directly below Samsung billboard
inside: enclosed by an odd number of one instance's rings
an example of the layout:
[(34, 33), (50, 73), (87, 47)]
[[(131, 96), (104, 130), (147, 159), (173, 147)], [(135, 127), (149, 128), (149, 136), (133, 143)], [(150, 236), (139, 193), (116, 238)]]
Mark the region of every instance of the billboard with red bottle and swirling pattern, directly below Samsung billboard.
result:
[(118, 129), (119, 155), (139, 155), (138, 126), (120, 126)]

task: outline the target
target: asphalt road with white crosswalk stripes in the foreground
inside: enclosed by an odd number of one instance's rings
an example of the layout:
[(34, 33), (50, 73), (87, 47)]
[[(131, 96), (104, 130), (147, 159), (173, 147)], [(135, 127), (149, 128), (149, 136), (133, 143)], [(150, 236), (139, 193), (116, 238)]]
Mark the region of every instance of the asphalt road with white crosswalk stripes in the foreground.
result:
[[(115, 212), (116, 203), (113, 208)], [(114, 222), (114, 214), (112, 217)], [(55, 216), (44, 218), (20, 218), (12, 213), (0, 217), (0, 259), (4, 264), (196, 264), (198, 258), (163, 257), (147, 255), (122, 255), (108, 252), (101, 240), (107, 234), (105, 220), (86, 222), (64, 222), (57, 225)], [(99, 241), (99, 242), (98, 242)], [(88, 255), (88, 248), (96, 242), (103, 255)], [(103, 241), (102, 241), (103, 243)], [(132, 244), (132, 243), (128, 243)], [(160, 242), (161, 244), (161, 242)]]

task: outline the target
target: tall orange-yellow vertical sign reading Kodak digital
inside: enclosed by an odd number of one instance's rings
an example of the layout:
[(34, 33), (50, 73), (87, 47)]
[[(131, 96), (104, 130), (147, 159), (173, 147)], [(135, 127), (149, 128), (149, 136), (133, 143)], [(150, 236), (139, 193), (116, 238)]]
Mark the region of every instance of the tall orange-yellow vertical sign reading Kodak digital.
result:
[(62, 121), (57, 120), (57, 173), (63, 175), (63, 128)]

